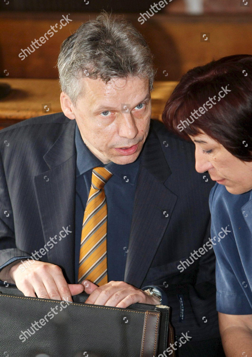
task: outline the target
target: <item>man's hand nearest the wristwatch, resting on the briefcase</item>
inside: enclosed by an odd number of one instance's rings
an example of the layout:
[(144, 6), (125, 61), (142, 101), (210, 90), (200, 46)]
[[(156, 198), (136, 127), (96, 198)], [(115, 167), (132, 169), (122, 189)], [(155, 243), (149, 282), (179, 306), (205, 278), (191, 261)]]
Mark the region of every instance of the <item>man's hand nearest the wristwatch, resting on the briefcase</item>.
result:
[(86, 304), (104, 305), (126, 308), (136, 302), (144, 304), (159, 305), (158, 297), (150, 296), (124, 281), (110, 281), (109, 283), (97, 287), (91, 281), (83, 280), (85, 292), (90, 294)]

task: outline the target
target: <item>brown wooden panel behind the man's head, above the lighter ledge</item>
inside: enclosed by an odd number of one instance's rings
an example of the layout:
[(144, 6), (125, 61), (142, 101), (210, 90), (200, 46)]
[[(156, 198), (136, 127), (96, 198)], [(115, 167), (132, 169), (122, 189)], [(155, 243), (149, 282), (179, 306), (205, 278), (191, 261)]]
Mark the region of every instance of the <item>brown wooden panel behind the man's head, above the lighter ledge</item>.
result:
[[(97, 14), (73, 13), (70, 24), (23, 61), (18, 56), (35, 38), (59, 23), (65, 12), (0, 14), (0, 77), (57, 78), (56, 61), (61, 42), (81, 23)], [(236, 15), (155, 14), (143, 25), (139, 14), (125, 14), (145, 36), (155, 56), (156, 80), (179, 80), (192, 67), (222, 56), (252, 52), (252, 17)], [(210, 42), (201, 42), (200, 33), (210, 32)], [(4, 72), (5, 71), (5, 72)], [(168, 75), (167, 75), (168, 74)]]

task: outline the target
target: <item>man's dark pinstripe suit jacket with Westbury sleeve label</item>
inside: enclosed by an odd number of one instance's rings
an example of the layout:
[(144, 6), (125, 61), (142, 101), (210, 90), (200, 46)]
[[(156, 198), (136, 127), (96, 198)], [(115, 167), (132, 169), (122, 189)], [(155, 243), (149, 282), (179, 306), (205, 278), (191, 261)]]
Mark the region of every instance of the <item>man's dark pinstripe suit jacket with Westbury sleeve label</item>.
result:
[[(57, 235), (41, 260), (60, 266), (67, 282), (74, 282), (75, 126), (57, 113), (0, 131), (1, 268)], [(218, 336), (214, 252), (178, 270), (180, 260), (210, 237), (213, 184), (195, 171), (194, 145), (161, 122), (151, 120), (141, 155), (124, 281), (167, 293), (177, 335), (190, 330), (194, 340)], [(71, 233), (59, 240), (62, 227)]]

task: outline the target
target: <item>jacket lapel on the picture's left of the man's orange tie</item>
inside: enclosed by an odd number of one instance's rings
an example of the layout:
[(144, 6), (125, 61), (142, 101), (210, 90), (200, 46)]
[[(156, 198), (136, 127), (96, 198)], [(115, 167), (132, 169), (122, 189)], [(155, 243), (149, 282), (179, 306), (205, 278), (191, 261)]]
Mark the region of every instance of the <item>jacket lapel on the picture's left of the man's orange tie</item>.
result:
[(75, 127), (75, 120), (67, 123), (51, 149), (43, 156), (49, 170), (34, 178), (45, 244), (50, 242), (50, 237), (57, 235), (52, 241), (56, 243), (49, 248), (46, 246), (48, 261), (63, 268), (71, 283), (74, 282)]

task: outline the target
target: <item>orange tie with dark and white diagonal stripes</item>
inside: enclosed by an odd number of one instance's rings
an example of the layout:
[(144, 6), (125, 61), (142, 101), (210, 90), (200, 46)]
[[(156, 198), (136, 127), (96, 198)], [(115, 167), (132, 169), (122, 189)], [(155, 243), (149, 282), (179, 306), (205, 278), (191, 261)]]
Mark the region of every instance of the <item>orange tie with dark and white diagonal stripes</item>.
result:
[(104, 167), (94, 167), (92, 172), (92, 184), (82, 224), (78, 283), (84, 279), (98, 286), (108, 282), (107, 203), (104, 185), (112, 175)]

